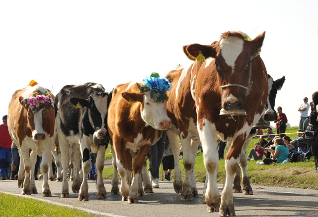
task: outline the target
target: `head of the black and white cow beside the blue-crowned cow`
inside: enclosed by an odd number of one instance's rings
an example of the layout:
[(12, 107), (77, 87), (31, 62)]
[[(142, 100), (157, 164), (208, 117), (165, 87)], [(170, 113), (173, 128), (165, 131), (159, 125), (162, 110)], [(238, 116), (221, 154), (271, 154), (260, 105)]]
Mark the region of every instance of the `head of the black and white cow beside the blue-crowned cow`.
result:
[(110, 94), (106, 92), (94, 92), (88, 99), (71, 98), (71, 103), (78, 109), (87, 109), (91, 127), (95, 130), (97, 139), (105, 139), (107, 134), (107, 110)]

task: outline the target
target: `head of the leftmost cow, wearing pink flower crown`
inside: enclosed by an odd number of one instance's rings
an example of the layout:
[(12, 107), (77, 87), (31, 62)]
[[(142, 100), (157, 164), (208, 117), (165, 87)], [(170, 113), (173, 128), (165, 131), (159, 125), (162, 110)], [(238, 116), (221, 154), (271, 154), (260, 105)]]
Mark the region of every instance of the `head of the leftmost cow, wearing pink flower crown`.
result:
[[(30, 98), (19, 98), (22, 107), (27, 111), (27, 126), (35, 141), (44, 140), (55, 133), (55, 109), (49, 94), (34, 94)], [(41, 152), (41, 150), (39, 150)]]

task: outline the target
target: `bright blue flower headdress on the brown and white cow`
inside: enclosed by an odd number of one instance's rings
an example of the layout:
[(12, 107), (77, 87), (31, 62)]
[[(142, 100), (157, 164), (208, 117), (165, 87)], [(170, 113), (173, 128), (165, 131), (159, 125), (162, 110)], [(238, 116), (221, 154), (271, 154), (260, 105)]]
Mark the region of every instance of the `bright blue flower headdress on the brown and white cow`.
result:
[(172, 85), (166, 78), (159, 78), (158, 73), (152, 73), (151, 77), (145, 77), (143, 80), (145, 85), (139, 86), (142, 93), (150, 91), (150, 98), (155, 103), (160, 103), (168, 100), (166, 94), (167, 91), (171, 90)]

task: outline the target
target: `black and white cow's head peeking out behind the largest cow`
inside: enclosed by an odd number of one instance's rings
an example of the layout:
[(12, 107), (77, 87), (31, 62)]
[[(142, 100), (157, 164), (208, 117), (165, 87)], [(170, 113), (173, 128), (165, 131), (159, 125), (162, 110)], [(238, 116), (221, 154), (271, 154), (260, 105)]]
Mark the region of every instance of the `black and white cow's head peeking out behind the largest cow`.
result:
[(277, 95), (277, 91), (279, 91), (285, 82), (285, 76), (282, 78), (274, 79), (268, 75), (268, 97), (267, 97), (267, 104), (265, 108), (264, 119), (267, 121), (274, 121), (277, 119), (277, 113), (275, 111), (275, 99)]

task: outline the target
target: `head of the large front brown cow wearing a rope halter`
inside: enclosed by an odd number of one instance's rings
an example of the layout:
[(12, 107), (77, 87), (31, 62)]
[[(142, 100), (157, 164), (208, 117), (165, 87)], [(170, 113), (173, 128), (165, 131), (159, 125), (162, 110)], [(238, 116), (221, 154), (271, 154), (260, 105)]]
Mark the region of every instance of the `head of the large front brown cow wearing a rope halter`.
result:
[(227, 32), (211, 45), (192, 44), (183, 47), (184, 53), (198, 62), (208, 57), (215, 58), (214, 65), (206, 66), (217, 71), (223, 109), (248, 110), (246, 96), (252, 84), (251, 63), (259, 54), (264, 37), (265, 32), (254, 40), (239, 32)]

